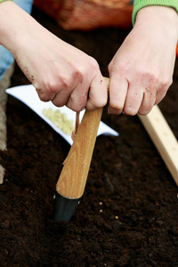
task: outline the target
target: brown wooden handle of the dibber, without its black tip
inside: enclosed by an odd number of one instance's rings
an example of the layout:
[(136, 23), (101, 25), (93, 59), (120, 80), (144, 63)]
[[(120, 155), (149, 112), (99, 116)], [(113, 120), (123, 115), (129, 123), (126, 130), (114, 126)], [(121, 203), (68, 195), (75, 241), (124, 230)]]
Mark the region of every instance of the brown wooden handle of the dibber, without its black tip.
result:
[[(109, 86), (109, 79), (105, 79)], [(102, 109), (85, 110), (76, 137), (64, 162), (56, 190), (66, 198), (81, 198), (91, 164)]]

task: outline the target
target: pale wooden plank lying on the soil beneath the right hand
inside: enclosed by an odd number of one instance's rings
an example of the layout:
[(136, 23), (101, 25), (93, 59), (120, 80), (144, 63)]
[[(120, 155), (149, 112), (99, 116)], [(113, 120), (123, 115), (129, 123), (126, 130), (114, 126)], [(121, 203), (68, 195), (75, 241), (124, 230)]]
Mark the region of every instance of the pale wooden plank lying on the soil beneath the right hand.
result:
[(138, 115), (138, 117), (178, 186), (178, 142), (166, 118), (158, 105), (154, 106), (147, 116)]

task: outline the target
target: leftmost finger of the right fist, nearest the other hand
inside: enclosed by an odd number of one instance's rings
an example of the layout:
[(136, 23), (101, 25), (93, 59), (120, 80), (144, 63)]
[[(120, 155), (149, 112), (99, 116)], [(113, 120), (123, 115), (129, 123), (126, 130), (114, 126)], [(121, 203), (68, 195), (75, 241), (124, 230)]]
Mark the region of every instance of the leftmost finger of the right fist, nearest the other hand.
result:
[(128, 82), (125, 77), (115, 75), (109, 83), (109, 114), (120, 114), (125, 105)]

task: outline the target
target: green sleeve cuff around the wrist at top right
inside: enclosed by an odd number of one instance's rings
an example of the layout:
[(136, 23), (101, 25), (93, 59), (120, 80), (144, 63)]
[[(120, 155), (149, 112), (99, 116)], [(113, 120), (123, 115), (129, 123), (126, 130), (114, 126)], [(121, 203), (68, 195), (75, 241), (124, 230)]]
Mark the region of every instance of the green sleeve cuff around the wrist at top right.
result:
[(142, 7), (148, 5), (171, 6), (178, 12), (178, 0), (134, 0), (133, 25), (135, 23), (137, 12), (139, 12)]

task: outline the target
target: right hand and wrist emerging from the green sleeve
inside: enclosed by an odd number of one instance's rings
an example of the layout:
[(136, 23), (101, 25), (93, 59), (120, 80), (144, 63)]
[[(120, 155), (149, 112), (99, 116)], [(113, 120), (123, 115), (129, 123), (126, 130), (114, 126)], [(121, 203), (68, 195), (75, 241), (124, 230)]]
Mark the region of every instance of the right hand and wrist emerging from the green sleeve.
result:
[(178, 15), (173, 8), (148, 6), (109, 63), (109, 113), (146, 115), (172, 84)]

